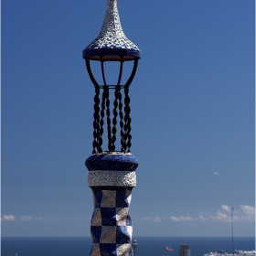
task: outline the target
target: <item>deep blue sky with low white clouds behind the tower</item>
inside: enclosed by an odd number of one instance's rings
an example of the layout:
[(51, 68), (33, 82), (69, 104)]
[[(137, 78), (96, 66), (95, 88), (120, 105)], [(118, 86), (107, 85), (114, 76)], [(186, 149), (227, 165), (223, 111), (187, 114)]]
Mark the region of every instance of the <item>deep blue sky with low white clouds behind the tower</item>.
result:
[[(90, 236), (94, 90), (81, 51), (105, 7), (2, 1), (2, 236)], [(253, 236), (254, 1), (118, 8), (142, 50), (130, 89), (133, 236), (230, 236), (230, 208), (234, 234)]]

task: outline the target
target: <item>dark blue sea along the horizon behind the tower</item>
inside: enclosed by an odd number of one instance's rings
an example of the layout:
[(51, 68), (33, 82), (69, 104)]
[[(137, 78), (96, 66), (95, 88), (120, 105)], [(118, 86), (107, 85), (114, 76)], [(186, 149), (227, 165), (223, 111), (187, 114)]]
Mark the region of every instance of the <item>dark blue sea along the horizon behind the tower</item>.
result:
[[(228, 237), (133, 237), (137, 240), (136, 256), (178, 256), (179, 246), (186, 243), (191, 256), (203, 256), (212, 251), (231, 253), (232, 239)], [(174, 251), (165, 251), (172, 246)], [(234, 238), (234, 248), (255, 250), (254, 237)], [(1, 256), (89, 256), (91, 238), (85, 237), (34, 237), (1, 238)]]

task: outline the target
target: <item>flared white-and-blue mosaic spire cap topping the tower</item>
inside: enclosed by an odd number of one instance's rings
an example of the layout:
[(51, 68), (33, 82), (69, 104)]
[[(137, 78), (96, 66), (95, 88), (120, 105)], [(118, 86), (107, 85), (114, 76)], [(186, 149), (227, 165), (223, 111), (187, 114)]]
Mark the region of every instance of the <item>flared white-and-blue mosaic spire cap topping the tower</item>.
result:
[(117, 0), (107, 0), (107, 10), (101, 32), (91, 44), (82, 51), (83, 59), (135, 59), (140, 58), (137, 48), (123, 33), (117, 9)]

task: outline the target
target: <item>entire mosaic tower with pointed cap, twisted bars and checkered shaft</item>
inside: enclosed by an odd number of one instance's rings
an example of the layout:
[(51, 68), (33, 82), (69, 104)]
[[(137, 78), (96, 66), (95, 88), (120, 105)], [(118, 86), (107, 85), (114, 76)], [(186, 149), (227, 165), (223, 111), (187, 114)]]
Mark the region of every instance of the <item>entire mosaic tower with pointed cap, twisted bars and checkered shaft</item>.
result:
[[(139, 163), (131, 154), (129, 87), (141, 56), (140, 49), (123, 33), (117, 0), (107, 0), (101, 32), (82, 51), (82, 57), (95, 88), (93, 150), (85, 162), (89, 170), (88, 186), (91, 187), (94, 201), (91, 256), (132, 256), (133, 226), (129, 206), (132, 189), (136, 186), (135, 170)], [(102, 84), (92, 74), (91, 61), (100, 64)], [(105, 79), (104, 65), (109, 61), (120, 63), (114, 85), (108, 84)], [(126, 61), (133, 62), (133, 69), (128, 80), (123, 82)], [(104, 135), (107, 138), (107, 150), (102, 150)], [(117, 138), (120, 138), (118, 150), (115, 145)]]

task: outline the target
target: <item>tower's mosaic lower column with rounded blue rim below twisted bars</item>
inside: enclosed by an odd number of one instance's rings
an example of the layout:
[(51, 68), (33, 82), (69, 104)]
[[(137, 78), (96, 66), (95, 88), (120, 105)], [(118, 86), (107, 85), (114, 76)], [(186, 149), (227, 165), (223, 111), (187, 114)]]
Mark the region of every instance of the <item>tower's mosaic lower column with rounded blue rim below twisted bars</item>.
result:
[(93, 192), (91, 256), (133, 256), (129, 214), (138, 160), (131, 154), (102, 153), (85, 162)]

